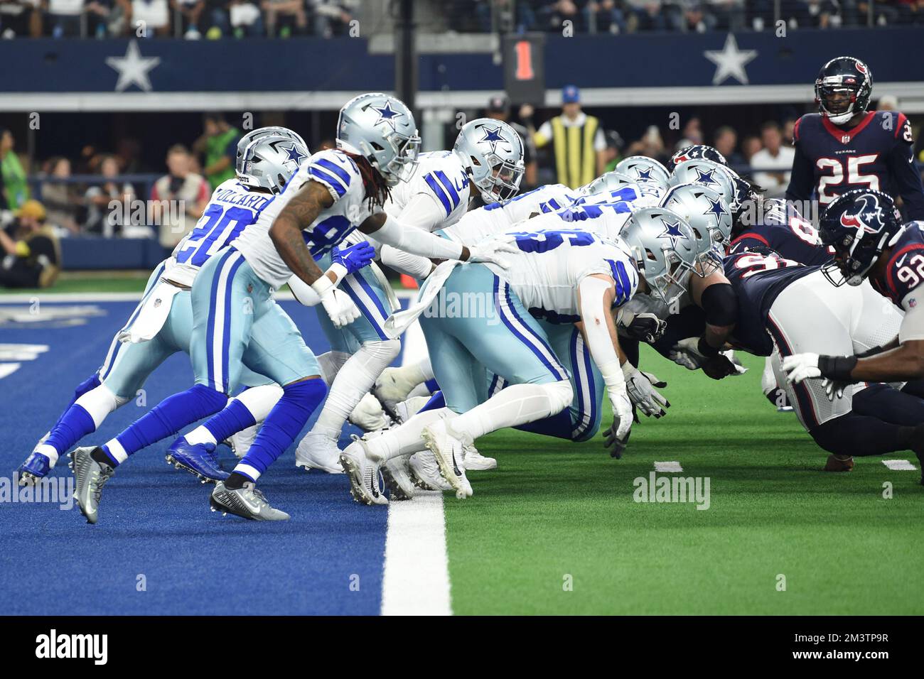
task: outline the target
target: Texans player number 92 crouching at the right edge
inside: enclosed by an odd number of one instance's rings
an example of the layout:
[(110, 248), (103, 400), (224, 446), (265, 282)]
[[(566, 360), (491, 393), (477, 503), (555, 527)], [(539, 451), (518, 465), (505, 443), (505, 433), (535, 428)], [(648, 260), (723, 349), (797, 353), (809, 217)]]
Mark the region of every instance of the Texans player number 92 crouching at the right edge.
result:
[[(821, 241), (834, 249), (833, 262), (822, 270), (833, 285), (867, 287), (864, 282), (869, 279), (876, 292), (904, 311), (904, 317), (897, 333), (890, 328), (888, 336), (880, 336), (884, 342), (865, 351), (833, 346), (823, 353), (800, 352), (784, 358), (787, 379), (802, 388), (820, 389), (836, 401), (857, 382), (924, 378), (924, 307), (918, 301), (924, 296), (924, 223), (902, 224), (889, 196), (855, 189), (828, 206), (821, 216), (819, 234)], [(877, 387), (882, 385), (867, 390)], [(899, 426), (881, 434), (882, 444), (890, 451), (915, 451), (924, 469), (924, 417), (917, 410), (909, 411), (908, 398), (912, 397), (896, 390), (883, 391), (877, 404), (881, 418)], [(864, 453), (875, 454), (859, 450), (855, 455)]]

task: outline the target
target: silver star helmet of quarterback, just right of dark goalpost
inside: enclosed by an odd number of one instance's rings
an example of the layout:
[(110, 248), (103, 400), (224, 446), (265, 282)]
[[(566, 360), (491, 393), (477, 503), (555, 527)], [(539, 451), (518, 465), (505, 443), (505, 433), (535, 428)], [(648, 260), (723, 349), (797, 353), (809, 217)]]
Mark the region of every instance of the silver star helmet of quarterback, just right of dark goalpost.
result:
[(466, 123), (453, 147), (485, 203), (505, 203), (523, 178), (523, 139), (502, 120), (477, 118)]

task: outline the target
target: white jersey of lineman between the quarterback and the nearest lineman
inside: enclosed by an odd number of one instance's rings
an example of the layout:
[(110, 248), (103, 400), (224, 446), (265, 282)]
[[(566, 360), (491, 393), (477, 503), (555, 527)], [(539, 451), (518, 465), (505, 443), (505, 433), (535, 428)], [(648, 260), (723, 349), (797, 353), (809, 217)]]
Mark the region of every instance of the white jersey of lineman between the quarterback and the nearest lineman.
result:
[(466, 213), (457, 224), (444, 229), (444, 236), (458, 243), (478, 243), (488, 236), (509, 231), (514, 224), (533, 214), (561, 210), (576, 199), (574, 189), (564, 184), (546, 184), (521, 193), (504, 205), (493, 202)]

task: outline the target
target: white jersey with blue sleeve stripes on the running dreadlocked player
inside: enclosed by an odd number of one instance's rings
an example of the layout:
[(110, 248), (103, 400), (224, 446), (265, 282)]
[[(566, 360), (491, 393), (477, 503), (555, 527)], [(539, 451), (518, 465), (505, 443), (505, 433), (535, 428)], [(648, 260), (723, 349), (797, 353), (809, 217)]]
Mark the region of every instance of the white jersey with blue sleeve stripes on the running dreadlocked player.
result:
[(241, 251), (254, 273), (274, 289), (286, 283), (292, 272), (270, 238), (270, 226), (292, 196), (309, 180), (320, 182), (334, 198), (334, 204), (302, 230), (305, 244), (315, 260), (334, 249), (372, 214), (359, 168), (352, 158), (333, 149), (312, 155), (298, 168), (282, 193), (261, 212), (257, 222), (246, 227), (231, 243)]

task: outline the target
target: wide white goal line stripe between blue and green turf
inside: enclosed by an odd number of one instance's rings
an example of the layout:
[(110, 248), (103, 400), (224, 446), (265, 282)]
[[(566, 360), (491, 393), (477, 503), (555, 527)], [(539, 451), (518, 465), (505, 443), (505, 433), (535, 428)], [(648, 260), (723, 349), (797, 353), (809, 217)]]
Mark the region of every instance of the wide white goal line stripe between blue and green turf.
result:
[(383, 615), (452, 615), (443, 493), (388, 504)]

